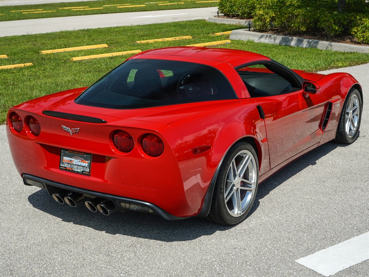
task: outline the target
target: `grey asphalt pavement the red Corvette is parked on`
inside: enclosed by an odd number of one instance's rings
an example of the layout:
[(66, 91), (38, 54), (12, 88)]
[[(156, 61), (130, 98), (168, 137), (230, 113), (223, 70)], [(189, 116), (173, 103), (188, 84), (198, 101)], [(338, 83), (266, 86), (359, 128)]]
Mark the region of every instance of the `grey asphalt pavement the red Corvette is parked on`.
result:
[[(358, 139), (326, 143), (277, 172), (231, 227), (60, 205), (23, 185), (0, 126), (0, 276), (322, 276), (296, 260), (369, 230), (369, 64), (329, 72), (339, 71), (363, 87)], [(366, 260), (333, 276), (368, 272)]]

